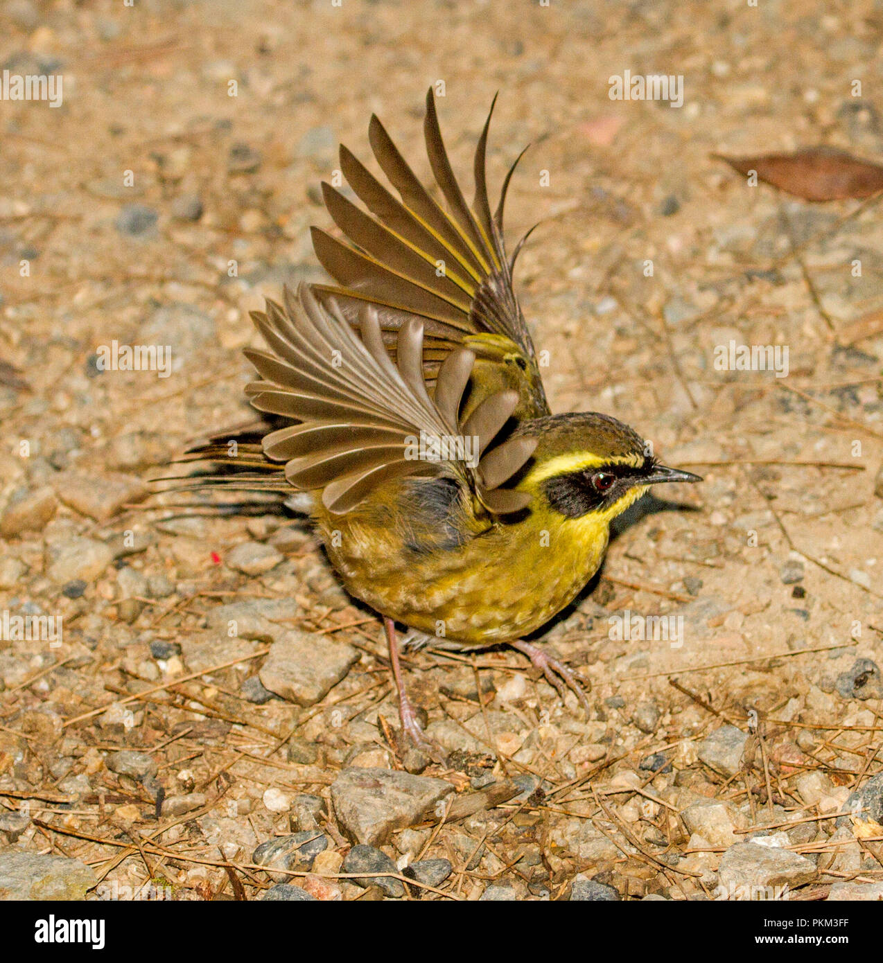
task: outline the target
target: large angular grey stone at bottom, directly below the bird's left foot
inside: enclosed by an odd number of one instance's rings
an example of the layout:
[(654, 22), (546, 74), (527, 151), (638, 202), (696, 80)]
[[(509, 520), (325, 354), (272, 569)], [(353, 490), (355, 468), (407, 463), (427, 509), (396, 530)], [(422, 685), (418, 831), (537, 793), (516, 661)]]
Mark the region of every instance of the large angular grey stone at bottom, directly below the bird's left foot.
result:
[(420, 820), (454, 791), (442, 779), (381, 768), (344, 769), (331, 786), (341, 829), (355, 843), (377, 846)]

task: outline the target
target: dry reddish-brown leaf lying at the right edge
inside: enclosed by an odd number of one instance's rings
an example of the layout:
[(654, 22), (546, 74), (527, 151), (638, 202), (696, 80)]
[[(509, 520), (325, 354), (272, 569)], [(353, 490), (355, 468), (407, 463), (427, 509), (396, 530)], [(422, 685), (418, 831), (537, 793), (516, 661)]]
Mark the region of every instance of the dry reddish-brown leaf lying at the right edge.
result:
[(807, 147), (793, 154), (724, 157), (740, 174), (757, 172), (759, 180), (804, 200), (844, 200), (883, 191), (883, 167), (862, 161), (837, 147)]

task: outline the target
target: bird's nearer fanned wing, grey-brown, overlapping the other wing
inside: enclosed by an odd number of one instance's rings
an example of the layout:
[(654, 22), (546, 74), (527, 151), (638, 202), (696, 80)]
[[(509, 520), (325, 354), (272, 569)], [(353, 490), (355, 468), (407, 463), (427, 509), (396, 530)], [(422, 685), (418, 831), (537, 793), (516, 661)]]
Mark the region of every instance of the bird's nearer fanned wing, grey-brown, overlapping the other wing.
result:
[(420, 475), (455, 477), (493, 513), (517, 511), (530, 501), (500, 486), (530, 458), (535, 440), (521, 435), (493, 444), (517, 393), (497, 392), (465, 420), (459, 414), (472, 351), (449, 352), (430, 398), (417, 318), (399, 329), (397, 364), (371, 305), (362, 306), (360, 336), (333, 300), (321, 304), (307, 286), (297, 296), (286, 290), (284, 308), (268, 301), (266, 314), (253, 312), (252, 318), (270, 351), (246, 351), (261, 376), (247, 385), (247, 395), (258, 410), (299, 422), (265, 435), (263, 454), (284, 462), (296, 488), (321, 490), (328, 510), (349, 511), (378, 484)]

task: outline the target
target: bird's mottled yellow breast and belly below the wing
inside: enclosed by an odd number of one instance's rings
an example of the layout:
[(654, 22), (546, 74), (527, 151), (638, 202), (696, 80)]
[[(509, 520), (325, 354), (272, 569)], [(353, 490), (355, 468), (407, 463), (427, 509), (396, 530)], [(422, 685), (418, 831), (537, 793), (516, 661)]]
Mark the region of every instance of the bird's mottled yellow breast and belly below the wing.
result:
[(429, 636), (468, 645), (511, 641), (542, 626), (597, 571), (609, 536), (604, 516), (533, 510), (421, 555), (405, 547), (393, 518), (384, 524), (377, 512), (319, 509), (316, 519), (352, 595)]

